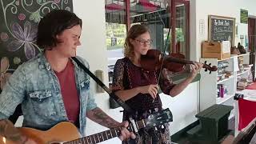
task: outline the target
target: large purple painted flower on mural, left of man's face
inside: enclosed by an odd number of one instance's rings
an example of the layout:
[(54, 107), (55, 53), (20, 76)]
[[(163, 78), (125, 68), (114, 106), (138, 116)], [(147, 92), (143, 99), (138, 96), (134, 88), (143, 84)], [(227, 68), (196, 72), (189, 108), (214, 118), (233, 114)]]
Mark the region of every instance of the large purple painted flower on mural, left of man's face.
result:
[(31, 27), (30, 22), (25, 22), (24, 30), (22, 30), (22, 27), (19, 26), (17, 22), (15, 22), (11, 26), (11, 31), (14, 34), (13, 36), (15, 40), (13, 40), (7, 45), (7, 50), (16, 51), (19, 50), (22, 46), (24, 46), (26, 58), (34, 58), (35, 44), (33, 42), (35, 42), (37, 37), (37, 28)]

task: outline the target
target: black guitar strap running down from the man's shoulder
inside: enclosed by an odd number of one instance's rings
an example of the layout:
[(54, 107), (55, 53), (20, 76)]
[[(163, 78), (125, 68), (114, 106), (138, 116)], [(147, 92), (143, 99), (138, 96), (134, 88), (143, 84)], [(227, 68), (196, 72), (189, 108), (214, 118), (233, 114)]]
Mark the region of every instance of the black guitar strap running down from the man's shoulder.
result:
[(82, 68), (82, 70), (85, 70), (86, 74), (89, 74), (90, 77), (93, 78), (94, 81), (97, 82), (98, 85), (101, 86), (102, 89), (107, 92), (107, 94), (110, 94), (110, 98), (113, 98), (114, 101), (118, 102), (118, 104), (122, 106), (122, 108), (129, 114), (134, 114), (134, 110), (132, 110), (130, 106), (123, 102), (122, 99), (118, 98), (118, 96), (114, 94), (112, 90), (110, 90), (110, 88), (108, 88), (100, 79), (98, 79), (94, 74), (92, 74), (90, 70), (82, 62), (78, 60), (78, 58), (72, 57), (72, 59), (74, 60), (74, 62), (78, 64), (78, 66)]

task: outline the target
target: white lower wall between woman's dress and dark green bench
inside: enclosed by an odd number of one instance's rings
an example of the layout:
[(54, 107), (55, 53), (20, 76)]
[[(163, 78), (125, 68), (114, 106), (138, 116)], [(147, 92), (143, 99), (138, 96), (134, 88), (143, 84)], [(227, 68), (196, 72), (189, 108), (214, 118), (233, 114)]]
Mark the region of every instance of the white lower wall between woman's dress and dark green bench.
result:
[(186, 126), (195, 122), (198, 114), (198, 82), (193, 82), (174, 98), (160, 94), (162, 106), (169, 108), (173, 114), (173, 122), (170, 122), (170, 134), (175, 134)]

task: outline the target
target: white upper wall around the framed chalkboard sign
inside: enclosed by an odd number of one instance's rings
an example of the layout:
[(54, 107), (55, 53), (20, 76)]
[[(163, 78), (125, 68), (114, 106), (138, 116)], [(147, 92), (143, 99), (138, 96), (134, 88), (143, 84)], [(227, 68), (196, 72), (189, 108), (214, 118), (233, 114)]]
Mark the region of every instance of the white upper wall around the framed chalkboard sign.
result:
[[(255, 0), (190, 0), (190, 50), (196, 51), (190, 54), (191, 58), (198, 60), (201, 57), (201, 43), (208, 38), (208, 15), (219, 15), (236, 18), (238, 33), (246, 34), (247, 25), (240, 24), (240, 9), (248, 10), (250, 15), (256, 15)], [(205, 34), (199, 34), (199, 21), (205, 23)], [(238, 39), (234, 43), (237, 46)]]

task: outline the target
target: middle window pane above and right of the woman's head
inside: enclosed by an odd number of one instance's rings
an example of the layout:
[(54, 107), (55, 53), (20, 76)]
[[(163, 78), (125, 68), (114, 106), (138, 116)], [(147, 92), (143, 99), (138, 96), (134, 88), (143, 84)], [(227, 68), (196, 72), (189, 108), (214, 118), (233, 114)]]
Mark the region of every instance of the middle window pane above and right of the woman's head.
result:
[(130, 6), (130, 24), (141, 23), (150, 28), (153, 49), (164, 50), (170, 27), (169, 7), (164, 0), (139, 0), (134, 6)]

